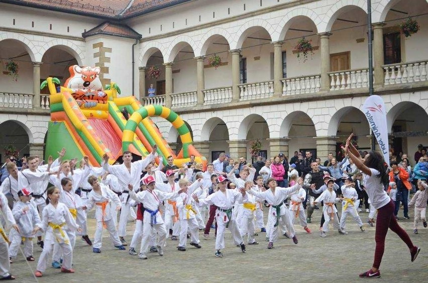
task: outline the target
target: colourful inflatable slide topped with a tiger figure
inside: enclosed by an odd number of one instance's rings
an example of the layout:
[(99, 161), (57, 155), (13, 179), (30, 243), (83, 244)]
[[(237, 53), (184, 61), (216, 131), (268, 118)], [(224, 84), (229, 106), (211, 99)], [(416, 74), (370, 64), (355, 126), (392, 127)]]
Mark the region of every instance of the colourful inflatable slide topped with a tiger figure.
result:
[[(57, 78), (47, 78), (41, 88), (50, 92), (51, 121), (46, 140), (46, 158), (57, 156), (66, 148), (67, 159), (88, 156), (92, 166), (100, 166), (102, 156), (113, 164), (124, 151), (145, 157), (158, 145), (157, 153), (166, 165), (167, 157), (181, 167), (190, 155), (206, 166), (206, 159), (192, 146), (192, 138), (184, 121), (169, 108), (161, 105), (143, 107), (134, 96), (118, 97), (116, 83), (102, 88), (99, 67), (70, 66), (70, 78), (59, 86)], [(123, 111), (129, 113), (127, 120)], [(183, 148), (175, 155), (150, 116), (160, 116), (177, 129)]]

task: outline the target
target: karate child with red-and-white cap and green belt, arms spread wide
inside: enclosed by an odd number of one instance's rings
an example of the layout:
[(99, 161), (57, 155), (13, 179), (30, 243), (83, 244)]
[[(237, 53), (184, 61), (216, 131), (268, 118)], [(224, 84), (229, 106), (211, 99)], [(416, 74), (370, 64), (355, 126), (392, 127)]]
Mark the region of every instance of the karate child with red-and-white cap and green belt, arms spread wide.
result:
[[(247, 200), (245, 189), (242, 188), (240, 193), (235, 190), (226, 189), (229, 179), (223, 176), (218, 178), (218, 191), (210, 194), (203, 200), (199, 200), (196, 195), (192, 195), (193, 199), (199, 206), (215, 205), (216, 222), (217, 222), (217, 237), (216, 237), (216, 257), (223, 257), (221, 249), (225, 248), (225, 229), (229, 227), (235, 243), (239, 243), (242, 252), (246, 252), (244, 241), (242, 240), (236, 218), (232, 215), (232, 208), (236, 201), (243, 202)], [(245, 185), (245, 184), (244, 184)]]

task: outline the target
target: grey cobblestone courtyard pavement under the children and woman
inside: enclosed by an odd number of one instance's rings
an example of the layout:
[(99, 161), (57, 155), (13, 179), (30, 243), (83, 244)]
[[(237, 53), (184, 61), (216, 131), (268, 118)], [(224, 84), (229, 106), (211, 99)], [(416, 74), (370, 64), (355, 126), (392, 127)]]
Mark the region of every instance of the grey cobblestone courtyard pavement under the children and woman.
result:
[[(338, 206), (339, 210), (341, 206)], [(259, 245), (247, 245), (247, 253), (234, 246), (227, 231), (224, 257), (216, 258), (215, 238), (211, 229), (211, 240), (202, 238), (201, 249), (196, 249), (187, 242), (187, 251), (178, 251), (178, 241), (167, 239), (165, 255), (149, 253), (148, 259), (141, 260), (128, 254), (128, 250), (119, 251), (113, 247), (106, 231), (103, 233), (103, 246), (100, 254), (92, 253), (80, 237), (77, 237), (73, 261), (74, 274), (60, 273), (59, 269), (49, 268), (39, 278), (40, 282), (260, 282), (275, 281), (363, 281), (358, 274), (368, 270), (374, 255), (374, 227), (365, 224), (366, 232), (361, 232), (350, 218), (347, 220), (348, 235), (339, 235), (331, 227), (328, 237), (319, 236), (318, 227), (322, 210), (315, 210), (312, 234), (306, 234), (300, 225), (295, 225), (299, 243), (280, 237), (275, 248), (268, 250), (265, 233), (256, 237)], [(265, 208), (265, 215), (267, 214)], [(340, 211), (339, 211), (340, 214)], [(381, 264), (381, 278), (377, 281), (412, 281), (423, 282), (428, 276), (428, 228), (419, 228), (419, 234), (412, 231), (413, 209), (409, 209), (410, 220), (399, 221), (409, 233), (415, 245), (421, 247), (415, 262), (410, 262), (407, 246), (392, 231), (386, 237), (386, 249)], [(368, 213), (361, 212), (363, 222)], [(399, 212), (402, 216), (402, 210)], [(92, 239), (94, 233), (93, 211), (88, 217), (88, 232)], [(128, 223), (128, 244), (131, 242), (134, 223)], [(128, 247), (129, 248), (129, 247)], [(35, 262), (30, 262), (34, 270), (41, 249), (35, 245)], [(30, 267), (22, 254), (12, 264), (12, 274), (17, 276), (15, 282), (35, 282)]]

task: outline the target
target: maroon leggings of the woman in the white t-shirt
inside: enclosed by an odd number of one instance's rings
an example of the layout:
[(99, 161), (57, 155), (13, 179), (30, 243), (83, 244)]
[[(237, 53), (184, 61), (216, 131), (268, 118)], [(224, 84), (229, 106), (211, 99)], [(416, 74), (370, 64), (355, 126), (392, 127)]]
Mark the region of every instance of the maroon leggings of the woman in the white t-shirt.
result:
[(387, 205), (382, 206), (377, 211), (376, 218), (376, 249), (375, 257), (373, 261), (373, 267), (379, 268), (380, 262), (382, 261), (383, 251), (385, 250), (385, 237), (388, 232), (388, 228), (396, 233), (409, 247), (411, 250), (413, 248), (413, 243), (411, 242), (409, 235), (403, 228), (398, 225), (397, 220), (394, 216), (394, 202), (391, 200)]

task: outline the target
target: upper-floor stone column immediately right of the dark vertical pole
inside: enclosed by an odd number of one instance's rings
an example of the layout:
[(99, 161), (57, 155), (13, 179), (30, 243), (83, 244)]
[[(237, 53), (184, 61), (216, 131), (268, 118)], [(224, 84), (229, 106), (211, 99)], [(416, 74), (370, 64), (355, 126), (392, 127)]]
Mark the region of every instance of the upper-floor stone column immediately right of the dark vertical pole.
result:
[(385, 23), (373, 24), (373, 71), (374, 71), (373, 85), (377, 85), (377, 86), (383, 86), (383, 83), (384, 83), (384, 73), (382, 68), (382, 65), (384, 64), (383, 26), (385, 26)]

